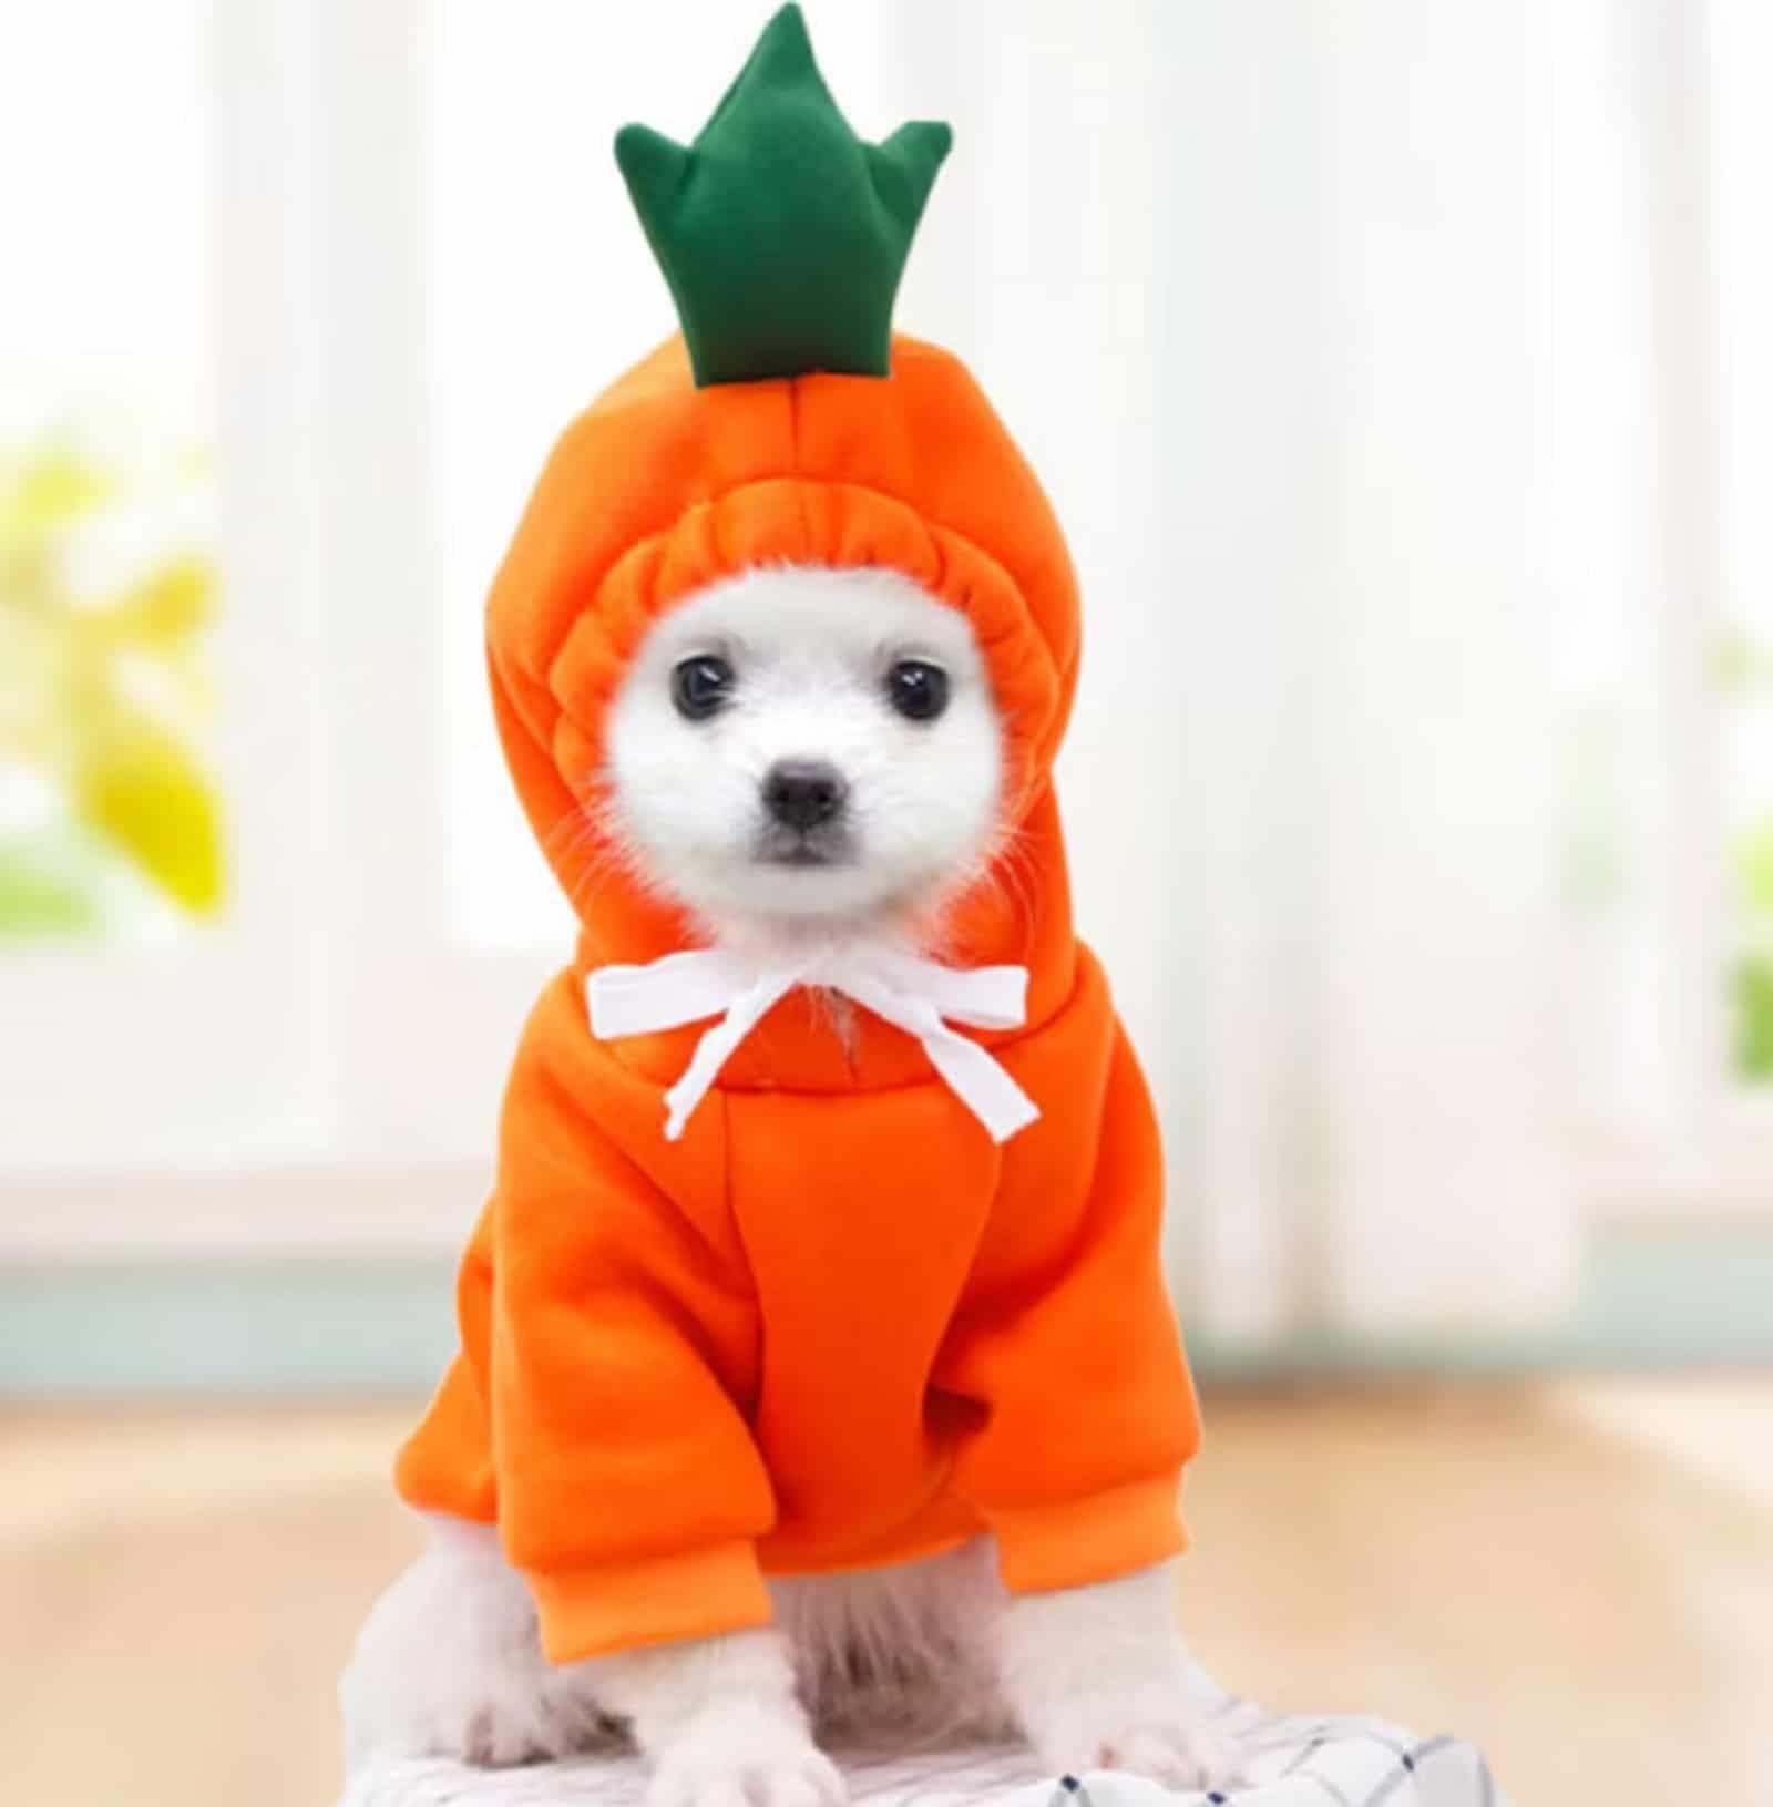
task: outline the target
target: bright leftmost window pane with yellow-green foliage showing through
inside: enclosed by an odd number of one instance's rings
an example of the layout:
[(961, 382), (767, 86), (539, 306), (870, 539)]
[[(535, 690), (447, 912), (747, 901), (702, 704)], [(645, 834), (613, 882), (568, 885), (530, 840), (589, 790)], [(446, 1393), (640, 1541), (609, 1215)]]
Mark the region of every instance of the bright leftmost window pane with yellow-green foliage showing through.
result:
[(202, 70), (199, 5), (0, 27), (0, 947), (222, 900)]

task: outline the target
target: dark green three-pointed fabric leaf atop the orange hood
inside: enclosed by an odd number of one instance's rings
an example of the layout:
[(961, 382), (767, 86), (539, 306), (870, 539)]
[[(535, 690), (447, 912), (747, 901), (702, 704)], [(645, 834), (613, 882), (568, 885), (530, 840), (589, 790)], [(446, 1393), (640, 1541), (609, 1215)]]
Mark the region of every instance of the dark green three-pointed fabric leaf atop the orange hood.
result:
[(893, 298), (951, 143), (933, 121), (857, 137), (797, 5), (765, 27), (694, 145), (624, 126), (616, 163), (698, 385), (886, 376)]

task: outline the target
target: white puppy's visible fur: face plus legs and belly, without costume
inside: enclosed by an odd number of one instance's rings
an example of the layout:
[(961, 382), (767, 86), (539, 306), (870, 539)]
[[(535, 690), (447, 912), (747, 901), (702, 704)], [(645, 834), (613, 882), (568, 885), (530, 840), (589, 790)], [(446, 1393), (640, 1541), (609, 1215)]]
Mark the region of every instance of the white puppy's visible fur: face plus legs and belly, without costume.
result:
[[(1003, 743), (958, 609), (891, 571), (750, 571), (652, 627), (611, 716), (602, 826), (716, 945), (929, 949), (1001, 851)], [(347, 1670), (351, 1760), (511, 1764), (631, 1735), (656, 1807), (815, 1807), (842, 1798), (815, 1731), (868, 1720), (1019, 1729), (1055, 1771), (1229, 1773), (1168, 1565), (1012, 1597), (980, 1538), (770, 1594), (768, 1628), (549, 1666), (497, 1536), (436, 1521)]]

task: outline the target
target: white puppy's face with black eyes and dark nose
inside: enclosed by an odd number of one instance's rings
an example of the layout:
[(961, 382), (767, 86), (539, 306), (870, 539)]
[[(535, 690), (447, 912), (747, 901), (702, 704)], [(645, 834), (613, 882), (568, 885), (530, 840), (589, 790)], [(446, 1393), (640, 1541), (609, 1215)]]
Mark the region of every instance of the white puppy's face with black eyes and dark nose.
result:
[(772, 567), (692, 596), (643, 641), (607, 746), (607, 826), (716, 932), (920, 914), (998, 833), (972, 627), (896, 571)]

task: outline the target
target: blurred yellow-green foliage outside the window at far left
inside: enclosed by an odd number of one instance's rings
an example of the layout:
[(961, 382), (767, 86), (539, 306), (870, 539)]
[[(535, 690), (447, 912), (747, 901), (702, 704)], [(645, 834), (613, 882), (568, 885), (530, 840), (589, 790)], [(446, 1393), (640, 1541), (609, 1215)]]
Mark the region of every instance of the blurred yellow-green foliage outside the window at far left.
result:
[(188, 916), (220, 907), (215, 571), (170, 533), (197, 481), (143, 493), (67, 445), (0, 461), (0, 938), (101, 929), (117, 867)]

